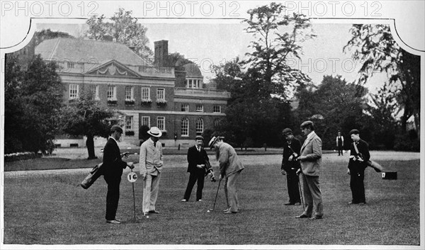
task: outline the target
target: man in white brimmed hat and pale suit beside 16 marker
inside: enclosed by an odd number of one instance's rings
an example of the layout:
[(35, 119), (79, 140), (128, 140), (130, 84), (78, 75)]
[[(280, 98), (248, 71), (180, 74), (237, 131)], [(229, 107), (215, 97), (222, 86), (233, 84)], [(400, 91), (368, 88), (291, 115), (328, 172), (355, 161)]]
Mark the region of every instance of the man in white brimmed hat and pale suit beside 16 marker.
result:
[(159, 191), (159, 179), (161, 178), (162, 166), (164, 164), (162, 158), (162, 144), (158, 142), (162, 136), (158, 127), (151, 127), (147, 132), (150, 135), (140, 146), (140, 174), (145, 183), (143, 188), (143, 215), (150, 213), (159, 213), (155, 210)]

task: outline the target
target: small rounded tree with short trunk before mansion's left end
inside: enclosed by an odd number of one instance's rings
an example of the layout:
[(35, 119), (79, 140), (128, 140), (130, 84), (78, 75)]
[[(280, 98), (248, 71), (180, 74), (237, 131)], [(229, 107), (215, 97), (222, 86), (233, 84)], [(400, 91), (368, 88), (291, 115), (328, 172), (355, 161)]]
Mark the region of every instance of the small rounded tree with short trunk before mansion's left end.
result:
[(113, 110), (103, 108), (94, 98), (93, 91), (81, 91), (79, 98), (62, 108), (60, 129), (68, 135), (87, 137), (88, 159), (95, 159), (94, 137), (108, 137)]

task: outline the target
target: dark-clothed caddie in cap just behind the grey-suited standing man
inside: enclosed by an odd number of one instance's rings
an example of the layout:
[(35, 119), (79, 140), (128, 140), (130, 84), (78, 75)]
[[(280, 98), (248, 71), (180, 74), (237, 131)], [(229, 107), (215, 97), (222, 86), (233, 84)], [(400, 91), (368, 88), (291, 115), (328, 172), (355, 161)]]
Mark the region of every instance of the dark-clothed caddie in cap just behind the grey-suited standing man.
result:
[(301, 143), (300, 140), (293, 136), (290, 128), (285, 128), (282, 131), (285, 142), (283, 145), (283, 158), (280, 172), (285, 175), (288, 183), (289, 201), (285, 205), (301, 205), (300, 191), (298, 190), (297, 170), (300, 169), (300, 161), (297, 157), (300, 156)]

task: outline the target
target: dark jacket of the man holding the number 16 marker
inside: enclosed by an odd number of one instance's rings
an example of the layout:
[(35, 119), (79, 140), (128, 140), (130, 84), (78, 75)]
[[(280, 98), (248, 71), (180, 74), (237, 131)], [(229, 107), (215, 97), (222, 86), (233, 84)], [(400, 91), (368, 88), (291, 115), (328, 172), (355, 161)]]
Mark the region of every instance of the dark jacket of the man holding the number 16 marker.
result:
[(120, 148), (113, 138), (109, 138), (103, 149), (103, 174), (120, 177), (127, 163), (121, 159)]

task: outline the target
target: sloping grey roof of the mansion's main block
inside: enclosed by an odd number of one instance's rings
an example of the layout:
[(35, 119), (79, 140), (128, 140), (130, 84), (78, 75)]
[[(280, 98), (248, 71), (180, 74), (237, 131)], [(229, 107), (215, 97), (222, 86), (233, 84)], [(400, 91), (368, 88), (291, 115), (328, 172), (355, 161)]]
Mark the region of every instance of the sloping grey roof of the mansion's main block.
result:
[(118, 42), (55, 38), (44, 40), (35, 47), (35, 54), (43, 59), (103, 64), (115, 59), (126, 65), (148, 65), (147, 61), (129, 47)]

